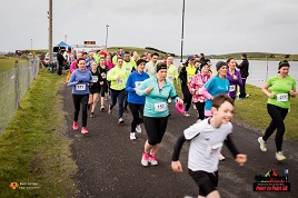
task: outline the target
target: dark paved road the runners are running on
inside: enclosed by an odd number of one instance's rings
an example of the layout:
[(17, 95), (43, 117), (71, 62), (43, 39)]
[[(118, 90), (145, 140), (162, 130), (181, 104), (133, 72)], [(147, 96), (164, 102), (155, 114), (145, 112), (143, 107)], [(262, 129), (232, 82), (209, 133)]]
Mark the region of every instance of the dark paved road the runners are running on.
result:
[[(180, 155), (185, 171), (178, 175), (170, 168), (173, 143), (182, 130), (196, 121), (195, 110), (191, 109), (190, 118), (185, 118), (173, 110), (171, 103), (172, 116), (157, 156), (159, 165), (145, 168), (140, 165), (140, 159), (147, 136), (142, 126), (142, 133), (137, 133), (137, 140), (129, 139), (130, 113), (125, 115), (126, 125), (118, 126), (117, 107), (111, 116), (107, 112), (99, 112), (98, 107), (96, 118), (88, 118), (89, 133), (81, 135), (80, 131), (71, 129), (73, 107), (70, 88), (66, 88), (62, 95), (64, 97), (63, 109), (68, 112), (68, 133), (73, 139), (72, 157), (79, 167), (74, 177), (80, 190), (77, 197), (182, 198), (198, 195), (195, 181), (187, 174), (188, 143), (185, 143)], [(257, 142), (259, 131), (244, 128), (237, 123), (234, 127), (234, 140), (238, 149), (248, 155), (248, 161), (245, 167), (239, 167), (224, 147), (222, 154), (227, 159), (220, 161), (219, 166), (218, 190), (221, 197), (298, 197), (298, 143), (285, 141), (285, 155), (288, 160), (277, 162), (274, 139), (270, 139), (268, 143), (268, 152), (261, 152)], [(279, 175), (284, 175), (285, 169), (289, 170), (291, 191), (252, 191), (255, 175), (264, 175), (272, 168)]]

